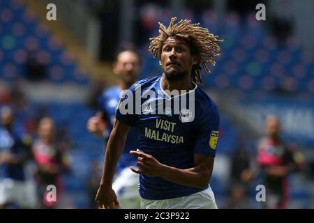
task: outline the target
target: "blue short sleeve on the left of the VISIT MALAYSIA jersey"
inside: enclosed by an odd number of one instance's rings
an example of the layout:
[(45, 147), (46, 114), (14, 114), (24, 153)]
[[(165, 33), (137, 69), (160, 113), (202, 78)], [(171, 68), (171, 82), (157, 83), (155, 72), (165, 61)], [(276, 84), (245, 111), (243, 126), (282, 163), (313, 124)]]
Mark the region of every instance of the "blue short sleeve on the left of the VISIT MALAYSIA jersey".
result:
[(130, 126), (135, 126), (137, 123), (137, 116), (135, 114), (135, 86), (136, 84), (131, 86), (121, 96), (116, 112), (116, 119)]

